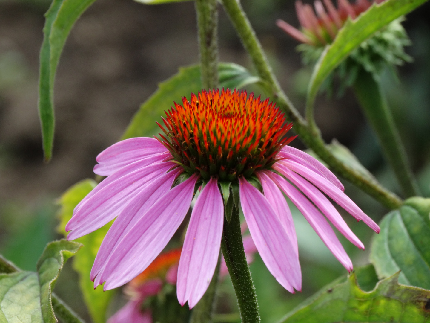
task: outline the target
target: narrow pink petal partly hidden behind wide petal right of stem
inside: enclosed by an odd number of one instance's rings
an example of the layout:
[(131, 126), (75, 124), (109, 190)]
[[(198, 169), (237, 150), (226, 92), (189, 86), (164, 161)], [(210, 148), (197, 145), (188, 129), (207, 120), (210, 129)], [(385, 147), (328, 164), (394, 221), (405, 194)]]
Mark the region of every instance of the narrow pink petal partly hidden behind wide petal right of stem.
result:
[(264, 171), (258, 172), (257, 176), (260, 179), (261, 185), (263, 186), (264, 196), (272, 206), (273, 211), (275, 211), (276, 215), (278, 216), (278, 219), (284, 227), (287, 236), (291, 240), (298, 257), (297, 235), (294, 228), (293, 217), (286, 199), (279, 190), (278, 186), (273, 183), (273, 180), (271, 180)]

